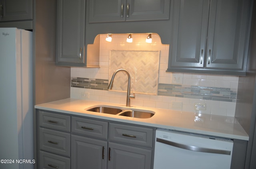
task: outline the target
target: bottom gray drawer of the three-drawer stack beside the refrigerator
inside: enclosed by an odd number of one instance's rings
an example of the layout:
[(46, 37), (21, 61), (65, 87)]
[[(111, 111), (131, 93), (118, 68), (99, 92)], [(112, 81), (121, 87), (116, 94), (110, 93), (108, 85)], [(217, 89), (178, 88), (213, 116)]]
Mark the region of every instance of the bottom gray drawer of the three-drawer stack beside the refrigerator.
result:
[(70, 158), (40, 151), (40, 169), (70, 169)]

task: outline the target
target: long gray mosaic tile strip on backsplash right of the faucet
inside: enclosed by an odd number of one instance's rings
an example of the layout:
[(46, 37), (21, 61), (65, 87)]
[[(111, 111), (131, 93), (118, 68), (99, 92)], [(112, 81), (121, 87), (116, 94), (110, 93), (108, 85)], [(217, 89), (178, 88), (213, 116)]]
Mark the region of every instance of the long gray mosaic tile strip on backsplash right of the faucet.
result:
[(236, 102), (237, 92), (230, 88), (158, 84), (158, 95)]

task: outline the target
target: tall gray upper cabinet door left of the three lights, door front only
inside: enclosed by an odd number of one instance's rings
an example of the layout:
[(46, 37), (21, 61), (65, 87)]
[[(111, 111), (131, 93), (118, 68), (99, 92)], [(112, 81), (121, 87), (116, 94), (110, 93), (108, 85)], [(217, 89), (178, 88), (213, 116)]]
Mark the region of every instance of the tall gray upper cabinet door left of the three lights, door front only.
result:
[(58, 0), (57, 65), (84, 63), (85, 5), (85, 0)]

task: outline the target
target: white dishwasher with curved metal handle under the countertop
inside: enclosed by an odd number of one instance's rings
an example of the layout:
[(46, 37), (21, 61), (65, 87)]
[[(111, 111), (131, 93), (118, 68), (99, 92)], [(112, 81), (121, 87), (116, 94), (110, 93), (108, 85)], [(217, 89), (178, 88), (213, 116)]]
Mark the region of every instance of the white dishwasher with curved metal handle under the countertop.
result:
[(233, 141), (156, 130), (154, 169), (230, 169)]

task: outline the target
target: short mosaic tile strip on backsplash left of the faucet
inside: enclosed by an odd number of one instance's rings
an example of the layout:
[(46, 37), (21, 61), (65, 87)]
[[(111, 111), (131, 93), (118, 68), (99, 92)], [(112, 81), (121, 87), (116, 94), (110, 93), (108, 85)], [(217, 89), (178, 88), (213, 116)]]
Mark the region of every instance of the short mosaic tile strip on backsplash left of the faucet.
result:
[(95, 90), (108, 90), (108, 79), (89, 79), (82, 77), (72, 77), (71, 87), (89, 88)]

